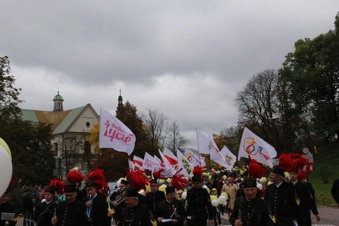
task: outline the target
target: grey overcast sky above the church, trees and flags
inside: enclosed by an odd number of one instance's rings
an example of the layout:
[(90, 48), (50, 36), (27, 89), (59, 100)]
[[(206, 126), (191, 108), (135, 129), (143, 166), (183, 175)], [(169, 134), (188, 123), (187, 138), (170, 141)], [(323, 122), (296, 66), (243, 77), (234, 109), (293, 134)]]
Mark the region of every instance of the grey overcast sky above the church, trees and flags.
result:
[(338, 0), (2, 1), (0, 56), (9, 56), (24, 109), (123, 102), (195, 128), (236, 125), (236, 91), (279, 69), (294, 42), (334, 28)]

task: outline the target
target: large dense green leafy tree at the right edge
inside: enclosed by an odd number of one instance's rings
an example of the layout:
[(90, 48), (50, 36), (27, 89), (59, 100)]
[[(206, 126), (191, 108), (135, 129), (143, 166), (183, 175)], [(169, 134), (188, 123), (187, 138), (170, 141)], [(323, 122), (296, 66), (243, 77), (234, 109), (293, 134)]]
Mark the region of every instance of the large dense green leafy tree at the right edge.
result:
[(334, 31), (313, 40), (296, 41), (279, 71), (296, 107), (311, 116), (313, 131), (328, 141), (339, 133), (339, 14), (334, 25)]

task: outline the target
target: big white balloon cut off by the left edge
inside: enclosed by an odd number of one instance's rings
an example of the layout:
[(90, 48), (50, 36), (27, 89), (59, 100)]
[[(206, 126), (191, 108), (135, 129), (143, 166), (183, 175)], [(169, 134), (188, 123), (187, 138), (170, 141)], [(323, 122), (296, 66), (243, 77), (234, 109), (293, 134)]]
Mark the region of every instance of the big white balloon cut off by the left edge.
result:
[(4, 195), (12, 178), (12, 161), (7, 150), (0, 146), (0, 196)]

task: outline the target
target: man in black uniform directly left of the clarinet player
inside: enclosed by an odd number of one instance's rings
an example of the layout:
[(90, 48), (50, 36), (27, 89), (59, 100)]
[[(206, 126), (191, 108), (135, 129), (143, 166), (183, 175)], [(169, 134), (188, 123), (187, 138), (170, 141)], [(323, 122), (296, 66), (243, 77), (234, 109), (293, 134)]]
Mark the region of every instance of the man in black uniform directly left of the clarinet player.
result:
[(75, 184), (66, 184), (64, 188), (65, 201), (58, 203), (56, 216), (51, 220), (57, 226), (83, 226), (87, 224), (86, 205), (76, 197)]

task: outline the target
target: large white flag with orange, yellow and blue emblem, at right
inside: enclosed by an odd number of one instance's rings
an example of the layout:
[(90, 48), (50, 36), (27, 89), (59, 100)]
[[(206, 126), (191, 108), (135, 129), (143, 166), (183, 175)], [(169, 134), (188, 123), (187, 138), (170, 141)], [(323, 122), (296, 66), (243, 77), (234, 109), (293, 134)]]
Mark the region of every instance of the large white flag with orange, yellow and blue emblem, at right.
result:
[(238, 160), (240, 157), (248, 158), (248, 156), (272, 168), (272, 159), (277, 156), (277, 152), (273, 146), (245, 127), (240, 141)]

